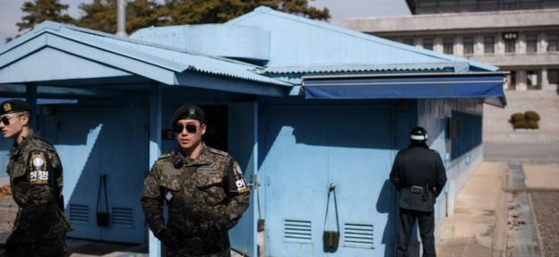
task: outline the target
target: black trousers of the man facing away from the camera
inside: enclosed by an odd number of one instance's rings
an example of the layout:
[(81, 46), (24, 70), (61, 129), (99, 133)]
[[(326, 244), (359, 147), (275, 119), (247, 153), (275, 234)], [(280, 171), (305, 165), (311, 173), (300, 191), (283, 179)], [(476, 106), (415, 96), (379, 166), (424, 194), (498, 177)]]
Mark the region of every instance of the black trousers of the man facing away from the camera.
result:
[(409, 239), (411, 231), (418, 221), (419, 235), (423, 244), (423, 257), (435, 257), (434, 253), (434, 216), (433, 212), (407, 210), (400, 208), (398, 219), (398, 247), (396, 256), (408, 257)]

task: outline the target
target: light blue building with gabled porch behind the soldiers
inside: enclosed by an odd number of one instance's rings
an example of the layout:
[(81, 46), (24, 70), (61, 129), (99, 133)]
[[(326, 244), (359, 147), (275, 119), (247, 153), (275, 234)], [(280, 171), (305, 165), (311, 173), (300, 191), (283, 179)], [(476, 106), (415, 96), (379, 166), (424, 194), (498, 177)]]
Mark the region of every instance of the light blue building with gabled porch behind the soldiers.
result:
[[(265, 7), (129, 39), (44, 22), (0, 47), (0, 97), (30, 101), (33, 126), (56, 145), (70, 236), (149, 241), (151, 256), (160, 247), (142, 216), (142, 180), (174, 149), (170, 115), (185, 102), (204, 108), (207, 143), (253, 184), (231, 231), (249, 256), (391, 256), (398, 205), (388, 175), (417, 124), (450, 180), (435, 208), (440, 230), (482, 159), (483, 103), (504, 105), (495, 66)], [(99, 227), (106, 205), (111, 224)], [(323, 231), (336, 229), (340, 247), (324, 253)]]

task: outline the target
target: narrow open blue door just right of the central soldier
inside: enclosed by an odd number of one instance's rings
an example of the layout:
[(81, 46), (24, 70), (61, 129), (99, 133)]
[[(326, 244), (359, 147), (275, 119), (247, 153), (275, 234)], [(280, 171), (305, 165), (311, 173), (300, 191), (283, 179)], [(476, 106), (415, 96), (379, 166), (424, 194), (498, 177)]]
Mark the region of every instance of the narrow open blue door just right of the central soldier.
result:
[[(243, 169), (245, 180), (250, 183), (256, 174), (257, 161), (257, 105), (254, 102), (228, 105), (228, 150)], [(254, 187), (251, 188), (251, 200), (248, 210), (236, 227), (229, 231), (231, 247), (245, 256), (256, 254), (256, 211), (257, 203)]]

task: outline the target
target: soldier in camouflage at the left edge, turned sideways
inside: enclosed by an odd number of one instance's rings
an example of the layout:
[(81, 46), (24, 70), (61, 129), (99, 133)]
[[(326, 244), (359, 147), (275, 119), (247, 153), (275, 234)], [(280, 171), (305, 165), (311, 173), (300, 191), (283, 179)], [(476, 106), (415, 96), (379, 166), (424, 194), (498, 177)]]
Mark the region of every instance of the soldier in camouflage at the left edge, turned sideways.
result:
[(64, 218), (62, 165), (55, 148), (30, 129), (30, 106), (13, 99), (0, 104), (0, 129), (13, 139), (7, 173), (19, 206), (5, 256), (63, 256), (64, 236), (72, 228)]

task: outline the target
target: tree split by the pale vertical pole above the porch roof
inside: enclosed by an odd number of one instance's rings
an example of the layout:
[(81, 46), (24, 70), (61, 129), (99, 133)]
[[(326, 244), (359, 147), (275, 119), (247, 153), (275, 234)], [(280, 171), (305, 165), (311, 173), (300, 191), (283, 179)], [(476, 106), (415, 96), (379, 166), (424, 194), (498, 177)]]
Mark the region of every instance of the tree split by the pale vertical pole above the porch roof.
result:
[[(116, 0), (93, 0), (90, 4), (80, 4), (82, 17), (76, 21), (78, 26), (116, 32)], [(144, 27), (158, 25), (159, 4), (155, 0), (133, 0), (126, 4), (126, 31), (133, 32)]]

